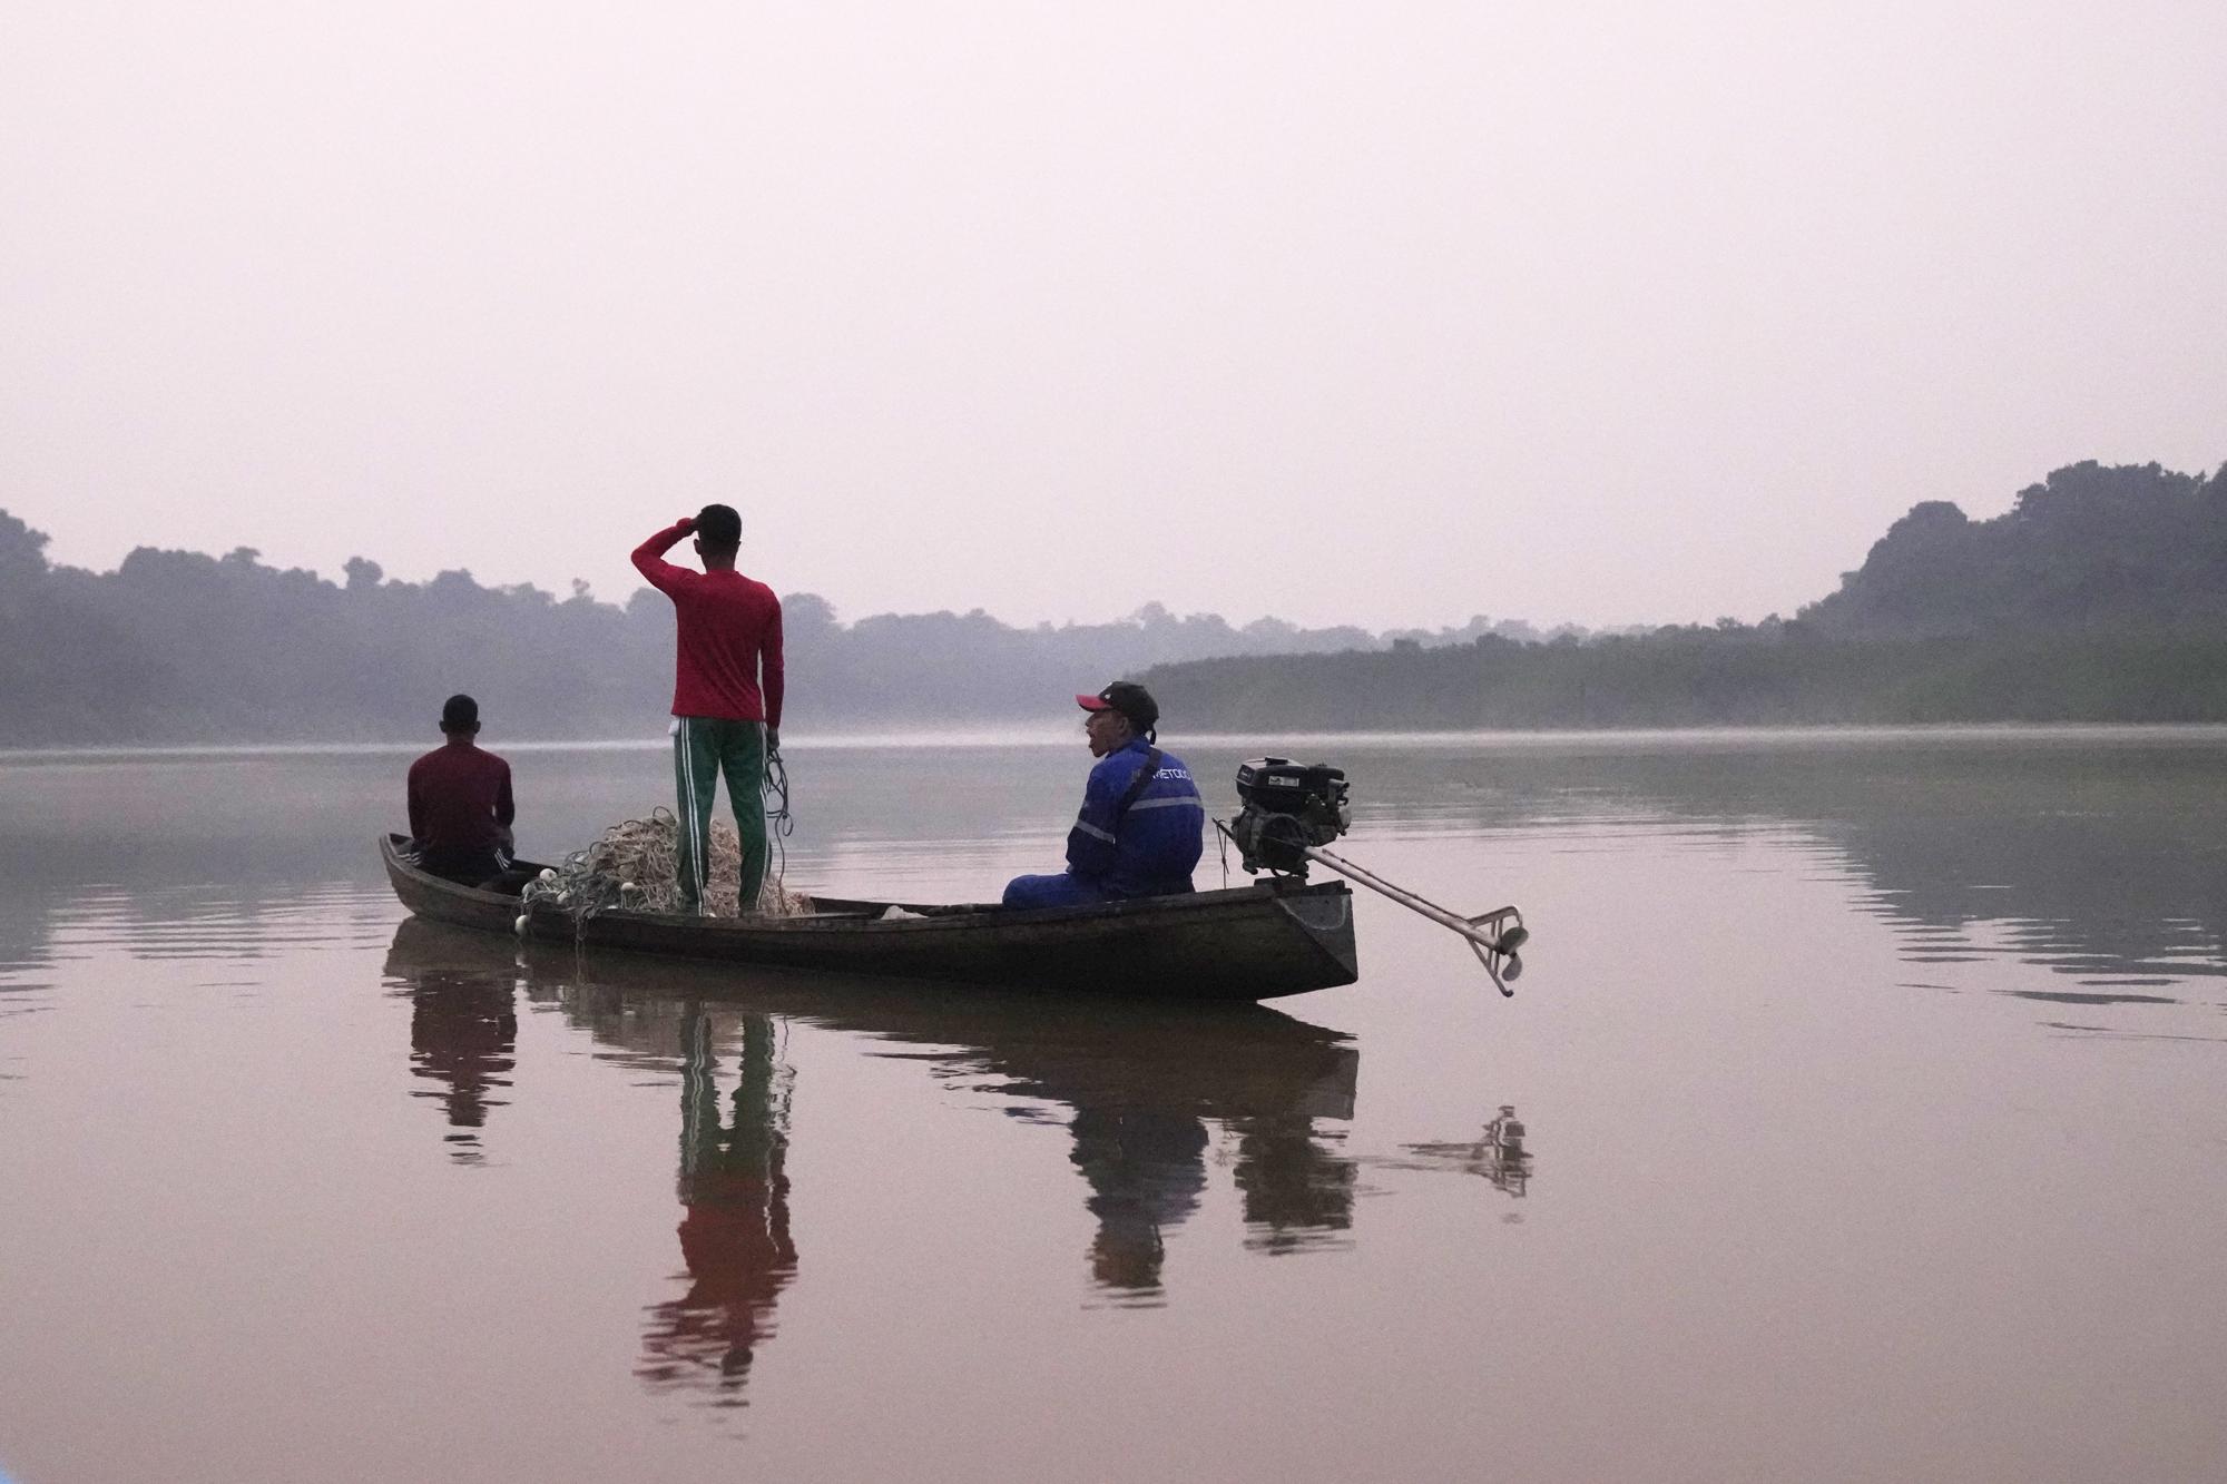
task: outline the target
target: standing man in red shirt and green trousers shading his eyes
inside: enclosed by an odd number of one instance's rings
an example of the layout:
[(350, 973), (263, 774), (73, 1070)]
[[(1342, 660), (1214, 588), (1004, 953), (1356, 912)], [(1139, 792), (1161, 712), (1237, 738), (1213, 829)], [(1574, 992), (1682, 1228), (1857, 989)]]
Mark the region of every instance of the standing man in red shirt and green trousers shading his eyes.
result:
[[(664, 555), (695, 537), (702, 573)], [(742, 836), (742, 911), (757, 911), (766, 880), (766, 753), (782, 746), (782, 599), (735, 570), (742, 517), (704, 506), (635, 548), (635, 570), (673, 599), (673, 780), (679, 793), (681, 911), (702, 911), (710, 869), (710, 807), (726, 802)]]

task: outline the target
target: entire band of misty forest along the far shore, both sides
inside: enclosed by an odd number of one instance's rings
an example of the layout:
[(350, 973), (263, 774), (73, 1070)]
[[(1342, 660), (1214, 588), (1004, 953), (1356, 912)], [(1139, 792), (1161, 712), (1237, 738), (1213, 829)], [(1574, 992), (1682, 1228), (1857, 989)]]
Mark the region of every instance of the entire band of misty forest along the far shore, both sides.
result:
[[(490, 735), (657, 735), (673, 611), (352, 559), (339, 582), (138, 548), (56, 566), (0, 510), (0, 744), (412, 740), (450, 691)], [(987, 613), (851, 624), (784, 595), (793, 733), (1062, 720), (1138, 675), (1180, 731), (2227, 722), (2227, 468), (2076, 463), (1973, 521), (1911, 508), (1793, 617), (1630, 633), (1114, 624)]]

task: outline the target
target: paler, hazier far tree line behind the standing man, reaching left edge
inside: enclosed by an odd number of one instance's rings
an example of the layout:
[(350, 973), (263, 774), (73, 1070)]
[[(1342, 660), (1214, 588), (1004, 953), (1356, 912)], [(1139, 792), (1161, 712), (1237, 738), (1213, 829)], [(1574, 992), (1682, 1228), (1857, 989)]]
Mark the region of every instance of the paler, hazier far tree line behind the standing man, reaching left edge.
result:
[[(673, 697), (673, 606), (465, 570), (394, 582), (354, 557), (341, 582), (223, 557), (138, 548), (114, 573), (53, 566), (47, 537), (0, 510), (0, 746), (408, 740), (470, 691), (508, 738), (657, 735)], [(1154, 662), (1381, 648), (1363, 628), (1232, 626), (1147, 604), (1114, 624), (1013, 628), (975, 613), (842, 624), (784, 597), (793, 731), (1062, 717), (1065, 697)], [(1403, 631), (1465, 644), (1525, 624)]]

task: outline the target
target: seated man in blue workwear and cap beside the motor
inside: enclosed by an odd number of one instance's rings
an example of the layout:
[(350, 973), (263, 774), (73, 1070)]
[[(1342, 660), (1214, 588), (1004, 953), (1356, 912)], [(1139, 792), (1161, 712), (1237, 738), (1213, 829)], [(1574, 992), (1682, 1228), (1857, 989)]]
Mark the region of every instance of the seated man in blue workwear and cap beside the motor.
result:
[(1183, 758), (1154, 746), (1160, 706), (1145, 686), (1116, 680), (1098, 695), (1078, 695), (1089, 717), (1098, 764), (1082, 789), (1082, 813), (1067, 831), (1067, 869), (1016, 876), (1007, 907), (1080, 907), (1129, 896), (1191, 889), (1205, 847), (1207, 807)]

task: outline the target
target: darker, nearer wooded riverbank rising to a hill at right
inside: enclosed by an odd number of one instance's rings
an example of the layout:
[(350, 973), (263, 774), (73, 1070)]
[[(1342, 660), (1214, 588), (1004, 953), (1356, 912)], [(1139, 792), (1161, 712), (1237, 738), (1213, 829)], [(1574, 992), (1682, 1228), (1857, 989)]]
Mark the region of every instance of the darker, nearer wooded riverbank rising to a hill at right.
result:
[(1187, 726), (2227, 722), (2227, 468), (2076, 463), (1986, 521), (1926, 501), (1759, 624), (1158, 666)]

